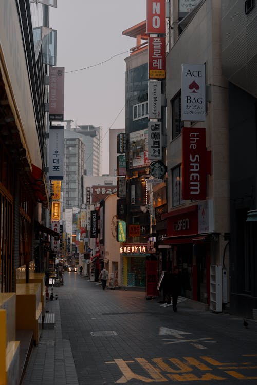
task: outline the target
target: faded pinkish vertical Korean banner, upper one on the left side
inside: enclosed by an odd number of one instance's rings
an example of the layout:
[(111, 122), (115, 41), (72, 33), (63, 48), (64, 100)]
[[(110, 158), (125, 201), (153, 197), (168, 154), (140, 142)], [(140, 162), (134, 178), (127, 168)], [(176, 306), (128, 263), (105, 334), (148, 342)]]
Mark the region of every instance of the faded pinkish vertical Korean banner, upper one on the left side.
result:
[(49, 69), (49, 120), (63, 121), (64, 114), (64, 67)]

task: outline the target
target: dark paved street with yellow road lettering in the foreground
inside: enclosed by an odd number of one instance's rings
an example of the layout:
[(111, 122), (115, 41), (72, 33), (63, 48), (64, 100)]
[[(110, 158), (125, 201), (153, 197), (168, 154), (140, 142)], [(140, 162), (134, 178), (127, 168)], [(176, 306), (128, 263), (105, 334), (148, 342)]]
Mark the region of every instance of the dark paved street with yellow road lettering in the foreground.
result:
[(174, 313), (144, 290), (103, 291), (74, 272), (53, 293), (56, 326), (43, 330), (23, 385), (256, 383), (254, 320), (246, 328), (182, 297)]

